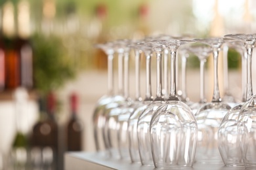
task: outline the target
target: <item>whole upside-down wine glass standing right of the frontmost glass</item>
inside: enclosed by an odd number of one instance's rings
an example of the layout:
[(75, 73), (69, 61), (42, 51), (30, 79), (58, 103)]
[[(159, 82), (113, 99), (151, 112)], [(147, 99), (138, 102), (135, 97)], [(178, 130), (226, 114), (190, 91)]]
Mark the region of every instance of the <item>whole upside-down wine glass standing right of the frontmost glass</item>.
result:
[(218, 149), (218, 129), (230, 106), (221, 102), (218, 80), (218, 57), (221, 45), (228, 41), (223, 38), (196, 39), (197, 42), (208, 44), (213, 50), (214, 86), (213, 99), (196, 112), (198, 122), (198, 144), (196, 161), (200, 163), (222, 163)]

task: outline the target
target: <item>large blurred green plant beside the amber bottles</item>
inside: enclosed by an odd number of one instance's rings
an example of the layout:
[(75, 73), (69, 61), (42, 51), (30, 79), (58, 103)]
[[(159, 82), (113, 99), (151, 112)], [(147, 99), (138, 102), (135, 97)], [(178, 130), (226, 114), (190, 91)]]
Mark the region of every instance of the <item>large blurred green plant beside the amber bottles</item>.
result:
[(66, 55), (60, 39), (36, 34), (32, 37), (32, 44), (35, 88), (39, 92), (45, 94), (56, 90), (74, 78), (72, 59)]

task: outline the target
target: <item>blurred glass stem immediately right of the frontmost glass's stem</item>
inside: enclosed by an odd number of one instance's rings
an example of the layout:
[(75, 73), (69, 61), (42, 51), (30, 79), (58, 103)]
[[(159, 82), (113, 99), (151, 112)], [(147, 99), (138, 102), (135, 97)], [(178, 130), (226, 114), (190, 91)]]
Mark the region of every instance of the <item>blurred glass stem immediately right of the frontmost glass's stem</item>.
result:
[(186, 101), (186, 54), (182, 54), (181, 61), (181, 100)]

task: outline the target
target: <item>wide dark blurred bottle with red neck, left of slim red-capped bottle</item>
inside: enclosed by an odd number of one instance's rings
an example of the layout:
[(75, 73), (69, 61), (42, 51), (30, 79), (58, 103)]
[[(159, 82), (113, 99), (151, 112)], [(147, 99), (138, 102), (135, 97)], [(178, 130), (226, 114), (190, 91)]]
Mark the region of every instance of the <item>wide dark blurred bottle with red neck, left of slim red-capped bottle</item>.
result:
[(54, 118), (55, 107), (53, 93), (49, 93), (46, 103), (39, 99), (40, 120), (33, 126), (31, 137), (33, 169), (58, 169), (58, 125)]

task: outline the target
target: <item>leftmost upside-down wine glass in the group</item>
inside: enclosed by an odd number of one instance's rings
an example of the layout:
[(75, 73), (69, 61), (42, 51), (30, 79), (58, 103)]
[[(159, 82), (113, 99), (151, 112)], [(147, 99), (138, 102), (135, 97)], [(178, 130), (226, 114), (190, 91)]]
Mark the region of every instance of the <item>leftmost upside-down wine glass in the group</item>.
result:
[[(97, 44), (96, 48), (101, 48), (108, 56), (108, 94), (102, 96), (96, 103), (93, 112), (93, 130), (95, 137), (95, 145), (97, 151), (106, 149), (103, 139), (103, 128), (105, 126), (104, 110), (106, 105), (113, 102), (124, 101), (123, 96), (114, 95), (114, 78), (113, 78), (113, 59), (114, 59), (114, 42), (106, 42), (105, 44)], [(120, 77), (120, 76), (119, 76)], [(122, 77), (122, 76), (121, 76)]]

